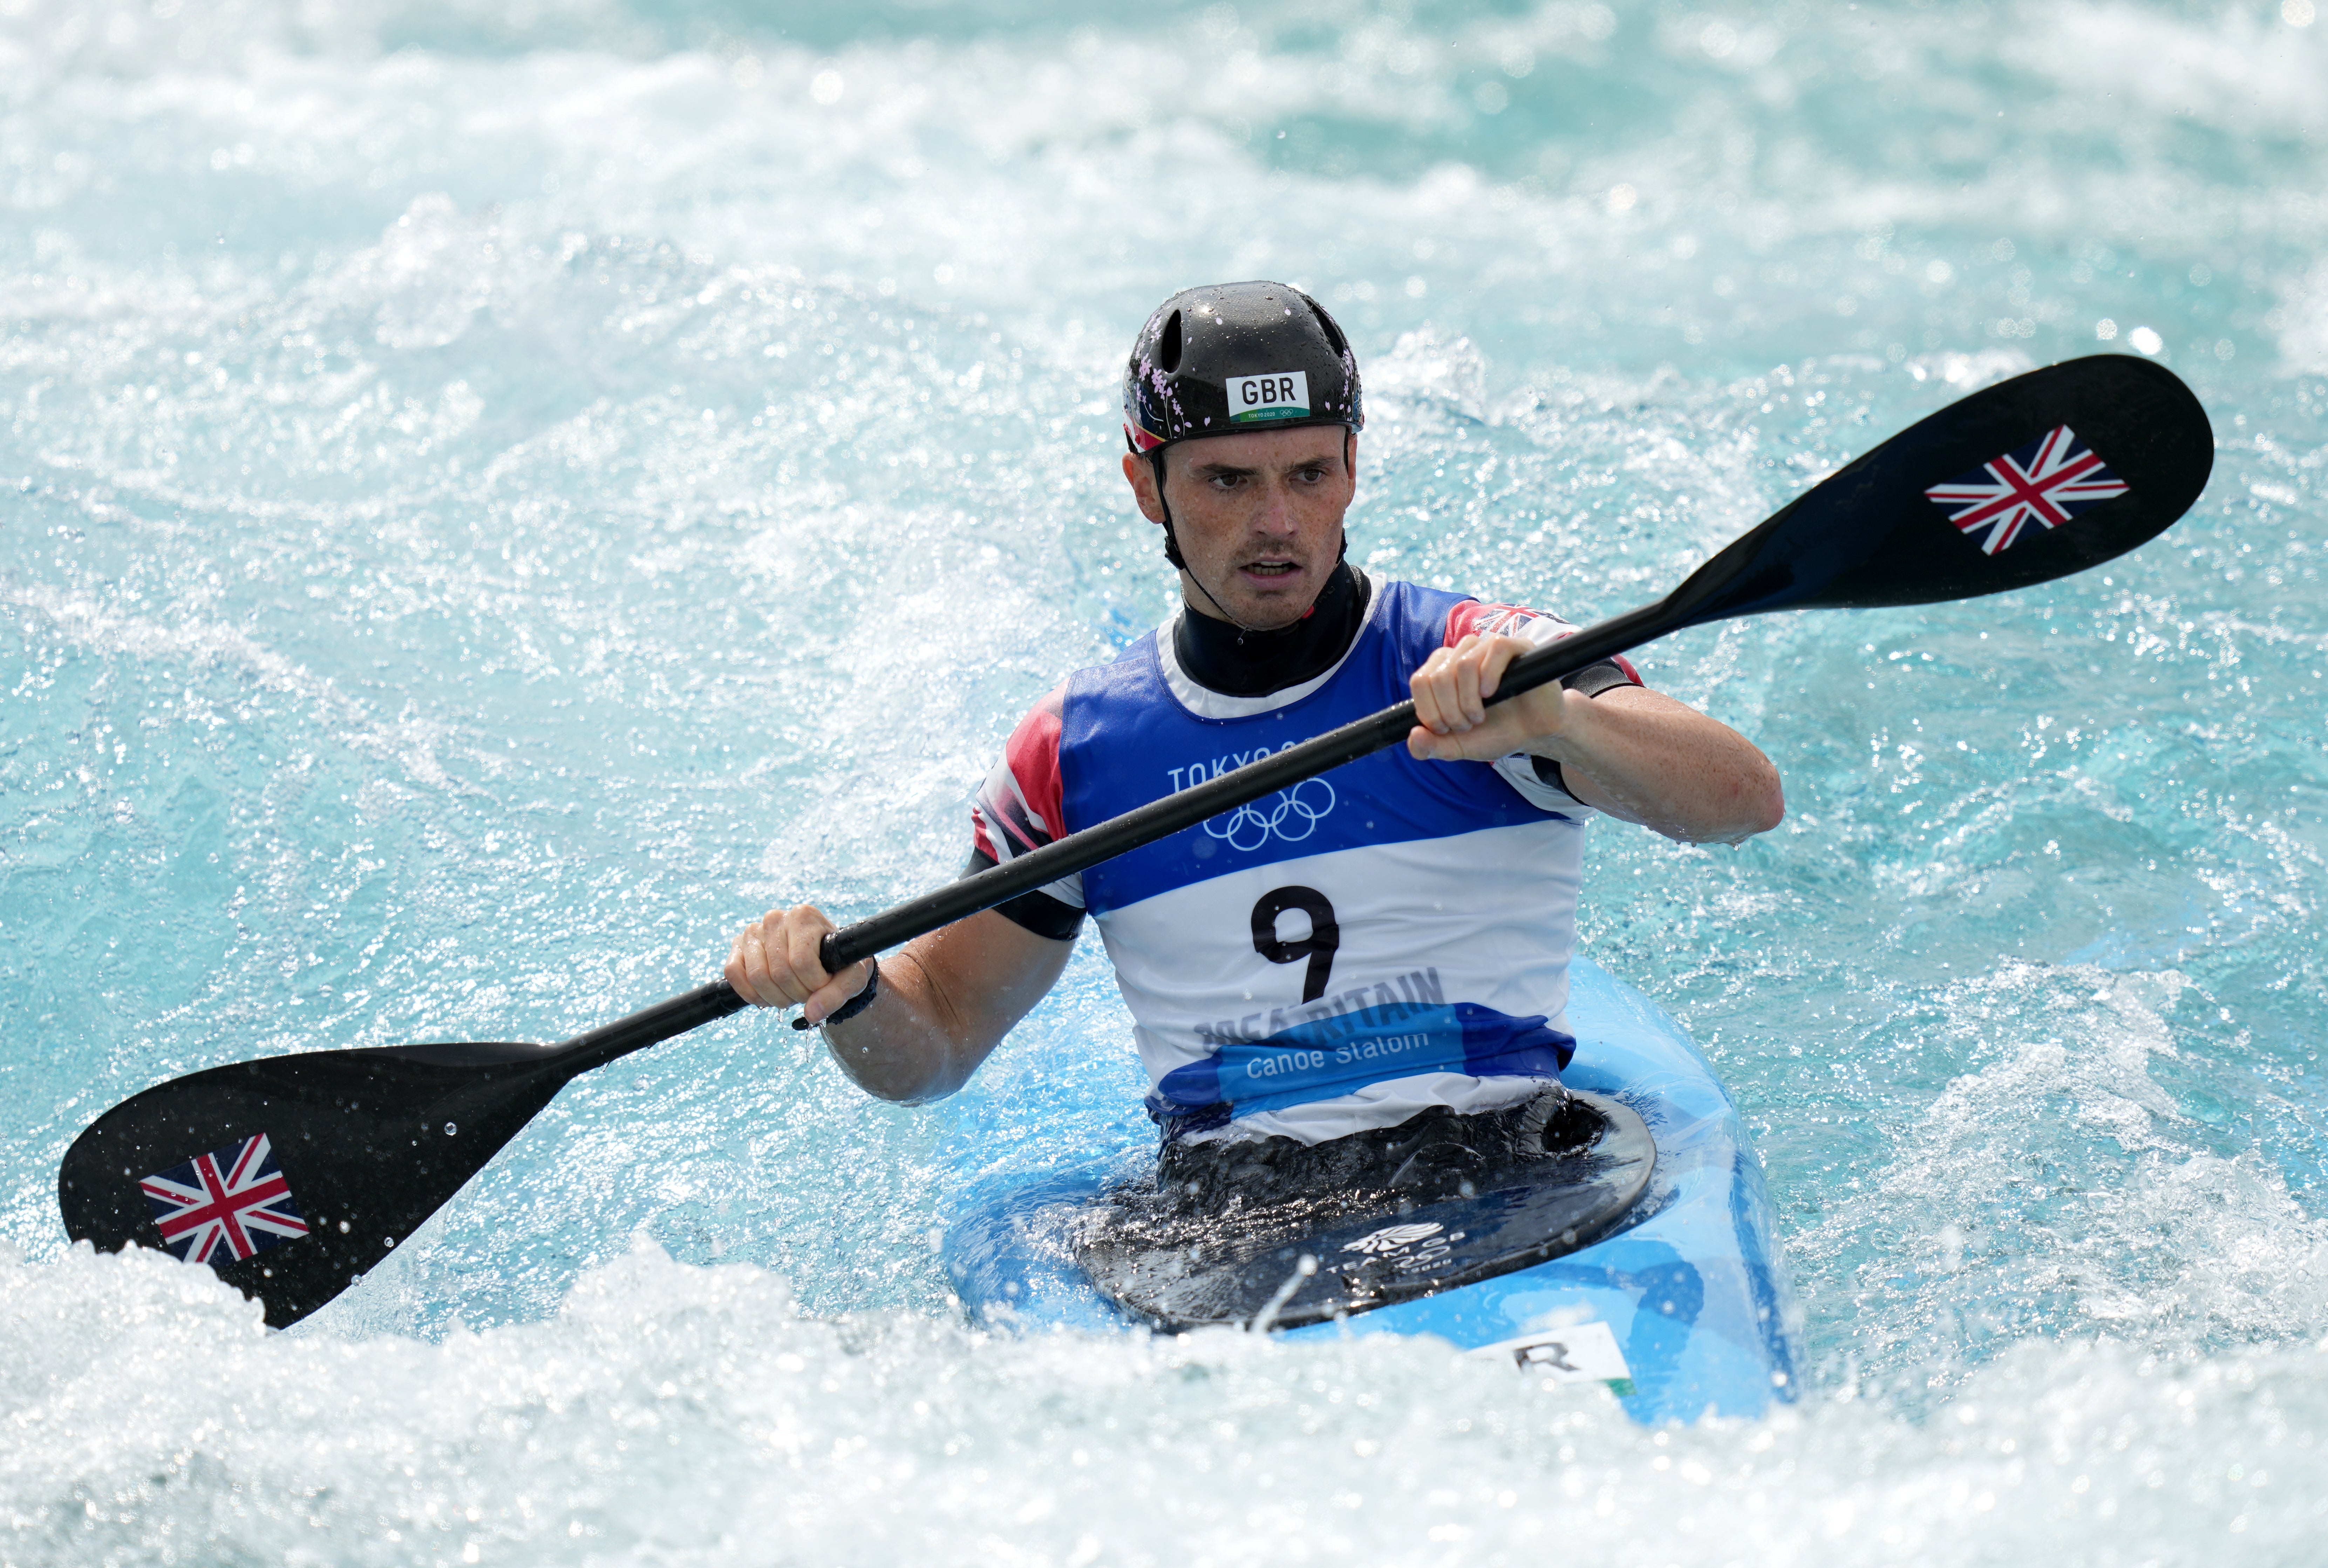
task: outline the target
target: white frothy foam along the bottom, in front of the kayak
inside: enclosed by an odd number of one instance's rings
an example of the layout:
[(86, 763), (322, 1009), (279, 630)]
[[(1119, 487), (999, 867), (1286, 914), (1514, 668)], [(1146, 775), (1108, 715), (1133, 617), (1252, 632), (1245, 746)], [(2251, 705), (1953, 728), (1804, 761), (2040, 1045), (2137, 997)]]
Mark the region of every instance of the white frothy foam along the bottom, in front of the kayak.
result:
[(1434, 1342), (817, 1319), (652, 1245), (435, 1345), (270, 1340), (161, 1256), (0, 1270), (44, 1345), (16, 1561), (2302, 1561), (2328, 1508), (2307, 1347), (2028, 1345), (1923, 1421), (1651, 1433)]

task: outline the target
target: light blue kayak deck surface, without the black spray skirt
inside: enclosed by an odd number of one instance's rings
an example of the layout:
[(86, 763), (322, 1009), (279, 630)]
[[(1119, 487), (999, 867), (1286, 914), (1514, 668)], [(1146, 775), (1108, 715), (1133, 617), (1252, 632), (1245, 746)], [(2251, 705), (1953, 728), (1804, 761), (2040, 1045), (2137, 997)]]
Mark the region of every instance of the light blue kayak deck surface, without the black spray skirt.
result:
[[(1632, 1417), (1651, 1424), (1755, 1417), (1774, 1400), (1793, 1400), (1795, 1303), (1762, 1166), (1720, 1079), (1674, 1019), (1583, 958), (1571, 965), (1569, 1026), (1578, 1045), (1562, 1082), (1632, 1110), (1655, 1145), (1646, 1193), (1611, 1233), (1509, 1273), (1383, 1291), (1378, 1305), (1350, 1303), (1325, 1317), (1285, 1312), (1329, 1273), (1325, 1261), (1318, 1275), (1301, 1275), (1299, 1252), (1273, 1259), (1257, 1249), (1255, 1261), (1285, 1266), (1271, 1280), (1271, 1296), (1285, 1291), (1285, 1298), (1264, 1326), (1287, 1340), (1436, 1335), (1557, 1382), (1606, 1384)], [(1055, 1086), (1066, 1103), (1043, 1126), (1017, 1121), (1008, 1142), (996, 1142), (994, 1128), (964, 1140), (964, 1152), (975, 1149), (982, 1163), (961, 1161), (941, 1247), (964, 1310), (994, 1326), (1092, 1333), (1180, 1326), (1110, 1300), (1078, 1245), (1103, 1193), (1152, 1166), (1152, 1133), (1145, 1121), (1129, 1124), (1120, 1100), (1099, 1103), (1120, 1093), (1113, 1082), (1085, 1075)], [(1101, 1126), (1110, 1133), (1094, 1135)], [(1385, 1224), (1429, 1219), (1418, 1212)], [(1250, 1293), (1236, 1298), (1245, 1303)], [(1222, 1310), (1185, 1321), (1255, 1317), (1262, 1312)]]

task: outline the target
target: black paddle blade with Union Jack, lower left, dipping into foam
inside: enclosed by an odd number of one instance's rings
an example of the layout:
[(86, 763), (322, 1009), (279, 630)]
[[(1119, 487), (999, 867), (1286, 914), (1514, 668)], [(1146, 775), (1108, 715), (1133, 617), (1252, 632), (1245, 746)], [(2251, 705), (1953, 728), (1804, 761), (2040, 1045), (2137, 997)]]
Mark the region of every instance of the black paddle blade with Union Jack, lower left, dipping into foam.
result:
[(191, 1072), (72, 1142), (65, 1233), (210, 1263), (282, 1328), (412, 1235), (575, 1070), (538, 1045), (398, 1045)]

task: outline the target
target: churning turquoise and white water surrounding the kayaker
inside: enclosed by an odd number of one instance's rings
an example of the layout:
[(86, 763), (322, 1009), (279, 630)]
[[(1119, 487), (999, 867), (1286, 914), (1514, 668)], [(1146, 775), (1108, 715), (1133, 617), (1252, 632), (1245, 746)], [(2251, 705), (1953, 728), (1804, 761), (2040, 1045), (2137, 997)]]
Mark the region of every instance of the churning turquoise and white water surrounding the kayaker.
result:
[[(2328, 1452), (2328, 21), (2284, 5), (0, 2), (0, 1559), (2295, 1563)], [(2109, 568), (1648, 649), (1786, 826), (1597, 828), (1807, 1400), (1013, 1342), (947, 1110), (773, 1021), (566, 1096), (307, 1328), (65, 1247), (105, 1105), (554, 1040), (947, 875), (1164, 607), (1171, 288), (1367, 363), (1353, 551), (1611, 614), (1979, 384), (2156, 354)], [(1096, 945), (982, 1072), (1134, 1070)]]

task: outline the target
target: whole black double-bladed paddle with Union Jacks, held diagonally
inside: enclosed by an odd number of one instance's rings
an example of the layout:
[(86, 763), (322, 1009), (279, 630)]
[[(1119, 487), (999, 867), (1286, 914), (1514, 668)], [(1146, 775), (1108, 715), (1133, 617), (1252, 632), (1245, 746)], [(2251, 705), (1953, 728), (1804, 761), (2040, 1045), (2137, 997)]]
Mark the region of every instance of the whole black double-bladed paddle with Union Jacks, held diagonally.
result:
[[(2081, 572), (2165, 530), (2212, 465), (2207, 414), (2163, 365), (2098, 356), (2037, 370), (1853, 461), (1655, 605), (1513, 661), (1495, 700), (1706, 621), (1923, 605)], [(2030, 509), (2044, 516), (2032, 521)], [(1413, 721), (1413, 703), (1399, 703), (845, 926), (824, 938), (824, 965), (838, 970), (1399, 744)], [(65, 1231), (102, 1252), (168, 1245), (210, 1261), (265, 1303), (270, 1324), (293, 1324), (379, 1263), (570, 1077), (743, 1005), (722, 979), (556, 1047), (314, 1052), (170, 1079), (98, 1117), (65, 1152)]]

